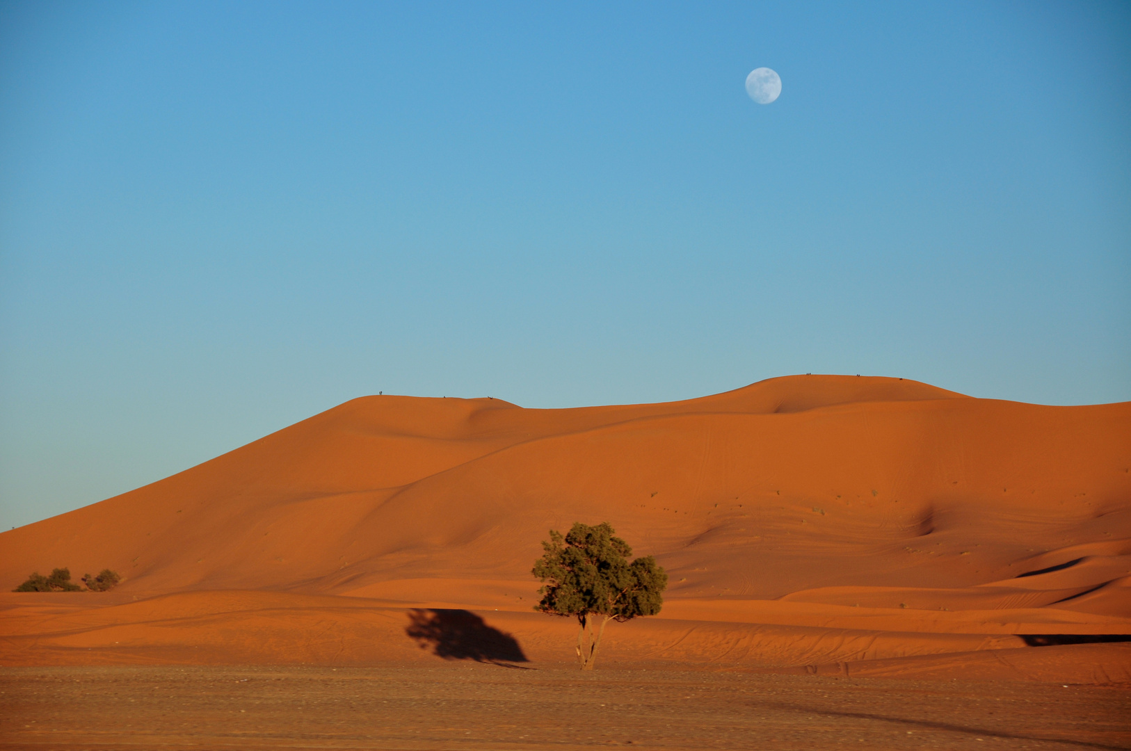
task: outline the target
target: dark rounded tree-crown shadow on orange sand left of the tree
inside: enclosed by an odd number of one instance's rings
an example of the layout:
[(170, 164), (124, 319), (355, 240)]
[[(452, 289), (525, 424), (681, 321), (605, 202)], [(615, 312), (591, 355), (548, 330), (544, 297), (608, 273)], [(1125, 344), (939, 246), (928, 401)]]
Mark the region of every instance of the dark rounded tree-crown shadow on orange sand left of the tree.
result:
[(408, 621), (405, 633), (415, 639), (421, 649), (431, 647), (437, 657), (495, 665), (529, 662), (515, 637), (491, 628), (475, 613), (414, 608), (408, 611)]

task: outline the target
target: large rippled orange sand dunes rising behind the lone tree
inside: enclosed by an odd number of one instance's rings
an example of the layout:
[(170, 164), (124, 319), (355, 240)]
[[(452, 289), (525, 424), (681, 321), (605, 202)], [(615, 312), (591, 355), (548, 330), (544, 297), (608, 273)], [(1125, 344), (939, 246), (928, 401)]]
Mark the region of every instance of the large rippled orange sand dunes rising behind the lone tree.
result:
[(1131, 403), (832, 376), (577, 409), (348, 402), (0, 535), (6, 589), (57, 566), (127, 577), (0, 596), (0, 664), (434, 659), (405, 632), (418, 607), (568, 659), (529, 569), (575, 520), (610, 521), (671, 577), (661, 616), (611, 629), (608, 659), (910, 673), (1011, 649), (1047, 676), (1087, 647), (1114, 661), (1089, 674), (1128, 674), (1123, 645), (1016, 635), (1131, 635)]

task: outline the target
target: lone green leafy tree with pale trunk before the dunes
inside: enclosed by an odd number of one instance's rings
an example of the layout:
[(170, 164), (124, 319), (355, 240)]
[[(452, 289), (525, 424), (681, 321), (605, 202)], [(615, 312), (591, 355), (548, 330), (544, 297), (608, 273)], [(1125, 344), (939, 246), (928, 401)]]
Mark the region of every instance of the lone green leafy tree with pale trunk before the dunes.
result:
[[(664, 604), (667, 573), (651, 555), (629, 563), (632, 549), (614, 532), (607, 521), (593, 527), (576, 523), (564, 537), (551, 529), (550, 542), (542, 543), (545, 553), (534, 562), (534, 576), (544, 584), (534, 610), (577, 618), (577, 657), (584, 671), (593, 670), (610, 620), (655, 615)], [(598, 614), (604, 619), (594, 637)]]

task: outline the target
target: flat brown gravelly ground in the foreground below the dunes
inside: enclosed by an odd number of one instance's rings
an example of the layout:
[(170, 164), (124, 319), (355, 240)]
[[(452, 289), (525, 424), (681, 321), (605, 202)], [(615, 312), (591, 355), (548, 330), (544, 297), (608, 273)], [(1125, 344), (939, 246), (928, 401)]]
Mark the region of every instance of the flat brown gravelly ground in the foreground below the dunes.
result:
[(599, 668), (0, 670), (3, 749), (1131, 749), (1131, 691)]

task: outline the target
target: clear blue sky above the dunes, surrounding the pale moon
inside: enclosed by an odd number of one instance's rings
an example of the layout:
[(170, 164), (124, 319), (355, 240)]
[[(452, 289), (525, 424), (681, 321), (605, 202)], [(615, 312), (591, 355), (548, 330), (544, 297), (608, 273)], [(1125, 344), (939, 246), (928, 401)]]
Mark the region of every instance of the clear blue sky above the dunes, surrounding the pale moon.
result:
[(1129, 92), (1119, 2), (5, 2), (0, 525), (379, 390), (1131, 399)]

